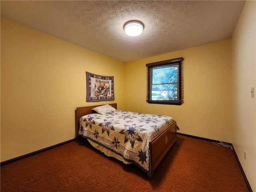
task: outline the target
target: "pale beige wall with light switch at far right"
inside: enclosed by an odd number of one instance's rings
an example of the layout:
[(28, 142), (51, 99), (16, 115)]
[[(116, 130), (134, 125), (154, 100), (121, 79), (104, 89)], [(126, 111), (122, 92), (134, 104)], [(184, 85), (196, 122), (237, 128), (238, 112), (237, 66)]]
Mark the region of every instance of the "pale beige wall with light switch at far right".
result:
[[(256, 191), (256, 1), (247, 1), (232, 37), (233, 123), (232, 144)], [(244, 151), (247, 157), (244, 159)]]

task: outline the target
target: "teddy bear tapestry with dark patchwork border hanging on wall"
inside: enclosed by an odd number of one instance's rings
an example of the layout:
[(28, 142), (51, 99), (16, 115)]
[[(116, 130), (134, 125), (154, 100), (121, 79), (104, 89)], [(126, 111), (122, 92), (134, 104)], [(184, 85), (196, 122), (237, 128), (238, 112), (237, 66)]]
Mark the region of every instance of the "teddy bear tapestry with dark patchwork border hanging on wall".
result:
[(86, 101), (114, 100), (114, 76), (86, 72)]

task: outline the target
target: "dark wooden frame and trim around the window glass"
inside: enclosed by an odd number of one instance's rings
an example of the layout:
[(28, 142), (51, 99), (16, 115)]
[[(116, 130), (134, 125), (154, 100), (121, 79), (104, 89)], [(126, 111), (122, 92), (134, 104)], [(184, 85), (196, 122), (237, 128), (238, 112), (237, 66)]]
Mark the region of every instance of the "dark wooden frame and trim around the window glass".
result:
[[(168, 105), (181, 105), (184, 103), (183, 98), (183, 57), (164, 60), (160, 62), (154, 62), (146, 64), (147, 67), (147, 102), (150, 104), (168, 104)], [(176, 100), (152, 100), (152, 73), (150, 71), (152, 68), (162, 67), (162, 66), (178, 66), (178, 82), (177, 82), (177, 99)], [(151, 84), (150, 84), (151, 82)]]

